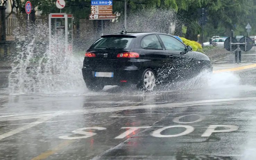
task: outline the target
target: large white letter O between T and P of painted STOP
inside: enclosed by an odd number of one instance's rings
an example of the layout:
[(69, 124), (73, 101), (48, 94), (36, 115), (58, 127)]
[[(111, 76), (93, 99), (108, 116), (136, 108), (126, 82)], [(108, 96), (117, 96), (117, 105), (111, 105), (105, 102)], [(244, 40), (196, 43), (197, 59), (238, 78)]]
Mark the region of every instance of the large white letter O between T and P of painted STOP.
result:
[[(168, 128), (174, 128), (174, 127), (184, 127), (186, 130), (182, 133), (179, 134), (172, 134), (172, 135), (162, 135), (161, 132), (168, 129)], [(183, 135), (187, 135), (195, 130), (194, 127), (189, 126), (189, 125), (175, 125), (175, 126), (167, 126), (163, 128), (159, 128), (158, 130), (155, 130), (151, 135), (154, 137), (179, 137)]]

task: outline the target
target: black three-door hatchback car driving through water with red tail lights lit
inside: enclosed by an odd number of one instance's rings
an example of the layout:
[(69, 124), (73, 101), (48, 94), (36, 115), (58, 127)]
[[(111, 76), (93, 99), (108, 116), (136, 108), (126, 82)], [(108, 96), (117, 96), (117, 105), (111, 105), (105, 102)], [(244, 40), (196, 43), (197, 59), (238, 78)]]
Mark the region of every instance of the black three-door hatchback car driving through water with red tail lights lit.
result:
[(85, 53), (83, 78), (89, 90), (136, 84), (152, 91), (163, 82), (212, 72), (210, 59), (163, 33), (117, 33), (101, 36)]

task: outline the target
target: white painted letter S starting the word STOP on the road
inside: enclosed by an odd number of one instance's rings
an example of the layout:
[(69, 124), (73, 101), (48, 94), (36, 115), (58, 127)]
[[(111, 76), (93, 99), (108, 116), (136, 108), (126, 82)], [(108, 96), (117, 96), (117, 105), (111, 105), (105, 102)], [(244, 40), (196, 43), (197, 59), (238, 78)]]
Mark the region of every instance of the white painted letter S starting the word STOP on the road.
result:
[(87, 130), (87, 129), (93, 129), (93, 130), (106, 130), (106, 128), (104, 127), (85, 127), (85, 128), (79, 128), (77, 130), (72, 131), (72, 133), (74, 134), (82, 134), (84, 136), (78, 136), (78, 137), (69, 137), (69, 136), (59, 136), (60, 139), (63, 140), (77, 140), (77, 139), (83, 139), (83, 138), (88, 138), (91, 136), (96, 135), (97, 133), (94, 132), (87, 132), (87, 131), (83, 131), (83, 130)]

